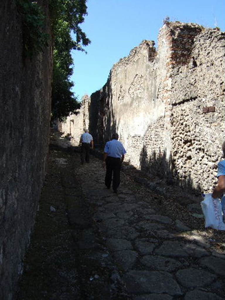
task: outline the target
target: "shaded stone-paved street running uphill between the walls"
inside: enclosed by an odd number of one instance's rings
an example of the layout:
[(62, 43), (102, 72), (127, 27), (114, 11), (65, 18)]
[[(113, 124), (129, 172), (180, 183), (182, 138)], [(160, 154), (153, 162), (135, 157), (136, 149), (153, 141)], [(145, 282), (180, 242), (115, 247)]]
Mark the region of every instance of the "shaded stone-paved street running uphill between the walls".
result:
[(97, 158), (50, 151), (17, 300), (224, 299), (225, 233), (133, 168), (118, 195), (104, 173)]

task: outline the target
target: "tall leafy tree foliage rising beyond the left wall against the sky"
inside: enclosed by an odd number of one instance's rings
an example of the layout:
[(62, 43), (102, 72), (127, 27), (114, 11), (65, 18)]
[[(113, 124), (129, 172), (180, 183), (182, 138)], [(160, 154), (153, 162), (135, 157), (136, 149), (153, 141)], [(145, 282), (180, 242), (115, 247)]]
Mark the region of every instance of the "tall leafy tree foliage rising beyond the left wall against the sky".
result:
[[(71, 50), (84, 51), (82, 46), (90, 43), (85, 33), (79, 27), (84, 21), (86, 0), (50, 0), (50, 12), (54, 39), (53, 52), (53, 83), (52, 83), (52, 119), (64, 117), (80, 107), (71, 88), (73, 82), (70, 76), (73, 73), (73, 59)], [(71, 37), (71, 31), (76, 40)]]

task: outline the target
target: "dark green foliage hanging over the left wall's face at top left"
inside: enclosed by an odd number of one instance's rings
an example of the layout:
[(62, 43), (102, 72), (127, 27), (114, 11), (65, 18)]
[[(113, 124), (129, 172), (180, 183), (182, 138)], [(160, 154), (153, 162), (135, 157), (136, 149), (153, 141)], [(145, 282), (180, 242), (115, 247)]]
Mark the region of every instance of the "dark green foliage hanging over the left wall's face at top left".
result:
[(36, 1), (17, 0), (17, 9), (22, 16), (22, 38), (25, 56), (43, 51), (49, 35), (44, 32), (45, 16)]

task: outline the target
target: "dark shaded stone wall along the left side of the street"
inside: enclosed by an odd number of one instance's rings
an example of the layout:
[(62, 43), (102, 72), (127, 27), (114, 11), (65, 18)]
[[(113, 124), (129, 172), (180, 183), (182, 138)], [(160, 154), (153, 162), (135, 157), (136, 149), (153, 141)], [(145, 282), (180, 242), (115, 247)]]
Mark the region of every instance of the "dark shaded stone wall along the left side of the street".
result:
[[(15, 2), (0, 2), (0, 299), (5, 300), (13, 298), (23, 271), (45, 175), (52, 76), (50, 46), (23, 58)], [(48, 1), (38, 2), (48, 15)]]

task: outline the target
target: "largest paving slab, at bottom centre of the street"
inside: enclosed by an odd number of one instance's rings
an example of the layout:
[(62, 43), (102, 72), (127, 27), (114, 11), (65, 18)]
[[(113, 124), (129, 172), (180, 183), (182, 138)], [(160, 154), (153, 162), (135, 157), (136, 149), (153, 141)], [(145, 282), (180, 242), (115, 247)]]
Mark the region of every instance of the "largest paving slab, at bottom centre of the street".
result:
[(122, 279), (130, 293), (182, 295), (178, 283), (168, 272), (132, 270), (126, 273)]

